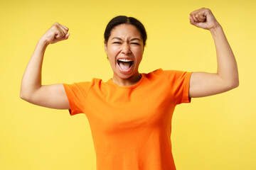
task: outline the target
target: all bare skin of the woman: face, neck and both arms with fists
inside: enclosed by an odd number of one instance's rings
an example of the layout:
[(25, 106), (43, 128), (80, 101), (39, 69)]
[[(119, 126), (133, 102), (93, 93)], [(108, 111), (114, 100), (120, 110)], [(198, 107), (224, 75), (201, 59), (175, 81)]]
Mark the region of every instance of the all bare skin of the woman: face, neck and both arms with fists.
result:
[[(220, 94), (239, 85), (238, 67), (223, 28), (208, 8), (200, 8), (190, 14), (190, 23), (198, 28), (209, 30), (215, 42), (218, 69), (216, 73), (193, 72), (191, 74), (189, 97), (203, 97)], [(41, 70), (43, 55), (48, 45), (69, 37), (68, 28), (54, 23), (36, 45), (21, 81), (20, 96), (23, 100), (48, 108), (69, 109), (68, 98), (63, 84), (42, 85)], [(139, 63), (144, 52), (142, 38), (137, 28), (122, 24), (115, 27), (108, 42), (105, 42), (110, 65), (113, 70), (112, 81), (119, 86), (131, 86), (140, 79)], [(129, 73), (119, 72), (119, 57), (134, 60), (134, 68)]]

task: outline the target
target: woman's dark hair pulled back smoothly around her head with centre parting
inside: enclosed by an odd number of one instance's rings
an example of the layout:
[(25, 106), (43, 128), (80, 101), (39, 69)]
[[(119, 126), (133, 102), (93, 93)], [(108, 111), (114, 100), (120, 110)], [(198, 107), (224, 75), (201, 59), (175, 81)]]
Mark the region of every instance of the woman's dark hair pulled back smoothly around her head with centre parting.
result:
[(136, 18), (133, 17), (127, 17), (127, 16), (116, 16), (114, 18), (112, 18), (112, 20), (107, 24), (107, 27), (105, 29), (105, 33), (104, 33), (104, 38), (105, 38), (105, 42), (108, 41), (108, 39), (110, 38), (111, 35), (111, 31), (115, 26), (119, 26), (121, 24), (131, 24), (132, 26), (135, 26), (139, 32), (141, 33), (142, 36), (142, 40), (143, 40), (143, 45), (146, 45), (146, 30), (143, 26), (143, 24), (138, 21)]

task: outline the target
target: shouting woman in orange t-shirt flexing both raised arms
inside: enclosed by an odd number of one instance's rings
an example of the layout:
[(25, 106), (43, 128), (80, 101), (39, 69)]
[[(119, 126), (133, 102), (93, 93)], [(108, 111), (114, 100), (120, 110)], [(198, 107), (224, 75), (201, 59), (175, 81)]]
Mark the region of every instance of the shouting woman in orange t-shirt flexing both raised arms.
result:
[(41, 85), (43, 54), (68, 39), (58, 23), (38, 41), (21, 83), (21, 98), (39, 106), (85, 113), (95, 145), (97, 169), (176, 169), (171, 153), (171, 117), (179, 103), (220, 94), (238, 86), (238, 67), (222, 27), (208, 8), (190, 14), (190, 23), (210, 30), (217, 73), (157, 69), (138, 72), (146, 30), (135, 18), (113, 18), (105, 30), (105, 52), (113, 70), (107, 82)]

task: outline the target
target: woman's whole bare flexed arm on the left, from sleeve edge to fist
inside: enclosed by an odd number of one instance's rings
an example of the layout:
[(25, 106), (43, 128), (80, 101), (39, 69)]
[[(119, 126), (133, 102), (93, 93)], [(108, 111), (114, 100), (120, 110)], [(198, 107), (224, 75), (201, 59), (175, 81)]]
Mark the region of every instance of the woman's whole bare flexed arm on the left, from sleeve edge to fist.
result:
[(63, 84), (42, 85), (41, 71), (46, 47), (60, 40), (68, 39), (68, 28), (54, 23), (36, 45), (21, 81), (20, 96), (23, 100), (47, 108), (68, 109), (68, 98)]

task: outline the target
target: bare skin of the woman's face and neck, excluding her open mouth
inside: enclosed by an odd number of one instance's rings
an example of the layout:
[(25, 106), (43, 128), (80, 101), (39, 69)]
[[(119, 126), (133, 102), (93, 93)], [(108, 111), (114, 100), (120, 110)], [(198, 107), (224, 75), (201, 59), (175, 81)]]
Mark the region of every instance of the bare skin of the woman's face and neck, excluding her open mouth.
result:
[[(113, 70), (115, 84), (119, 86), (132, 86), (140, 79), (139, 64), (142, 61), (144, 45), (141, 34), (135, 26), (121, 24), (111, 31), (110, 38), (105, 42), (105, 52)], [(133, 60), (132, 72), (122, 73), (119, 70), (117, 59)]]

